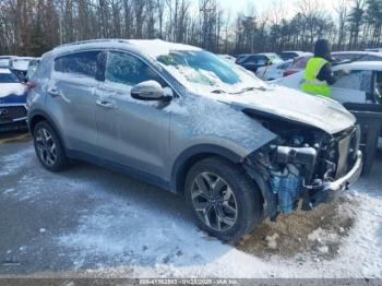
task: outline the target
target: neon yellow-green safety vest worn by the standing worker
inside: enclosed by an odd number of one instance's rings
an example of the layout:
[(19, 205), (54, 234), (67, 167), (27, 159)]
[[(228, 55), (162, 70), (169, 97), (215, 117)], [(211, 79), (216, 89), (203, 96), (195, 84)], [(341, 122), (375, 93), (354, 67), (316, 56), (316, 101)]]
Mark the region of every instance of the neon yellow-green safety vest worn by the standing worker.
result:
[(301, 84), (301, 91), (322, 95), (325, 97), (332, 97), (332, 88), (325, 81), (319, 81), (317, 76), (319, 75), (321, 69), (329, 63), (323, 58), (311, 58), (308, 63), (303, 75), (303, 82)]

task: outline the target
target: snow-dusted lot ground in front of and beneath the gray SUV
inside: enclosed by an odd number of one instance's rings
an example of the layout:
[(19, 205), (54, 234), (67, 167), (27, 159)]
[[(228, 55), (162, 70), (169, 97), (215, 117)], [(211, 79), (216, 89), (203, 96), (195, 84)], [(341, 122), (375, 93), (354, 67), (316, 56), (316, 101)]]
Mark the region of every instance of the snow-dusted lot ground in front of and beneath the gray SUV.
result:
[(44, 170), (0, 136), (0, 275), (382, 277), (382, 156), (334, 204), (265, 222), (237, 246), (198, 230), (182, 198), (77, 164)]

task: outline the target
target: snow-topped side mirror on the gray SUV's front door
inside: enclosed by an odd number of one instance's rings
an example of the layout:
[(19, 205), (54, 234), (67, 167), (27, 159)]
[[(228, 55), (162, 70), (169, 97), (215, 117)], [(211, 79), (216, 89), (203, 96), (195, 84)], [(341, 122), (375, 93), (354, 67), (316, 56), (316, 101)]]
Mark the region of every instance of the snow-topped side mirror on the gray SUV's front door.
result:
[(156, 81), (146, 81), (131, 88), (131, 97), (140, 100), (160, 100), (165, 97), (164, 88)]

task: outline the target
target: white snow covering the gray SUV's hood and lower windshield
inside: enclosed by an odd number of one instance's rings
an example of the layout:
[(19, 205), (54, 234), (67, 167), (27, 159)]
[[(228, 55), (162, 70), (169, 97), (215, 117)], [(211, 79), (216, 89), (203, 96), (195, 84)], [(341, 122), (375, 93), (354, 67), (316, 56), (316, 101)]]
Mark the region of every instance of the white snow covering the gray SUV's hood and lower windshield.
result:
[[(242, 109), (254, 109), (321, 129), (330, 134), (354, 126), (356, 118), (335, 100), (312, 96), (287, 87), (267, 84), (252, 73), (235, 67), (240, 75), (237, 84), (226, 84), (207, 71), (195, 71), (188, 67), (163, 67), (189, 92), (232, 104)], [(246, 87), (251, 92), (240, 93)], [(222, 91), (222, 93), (216, 93)]]

